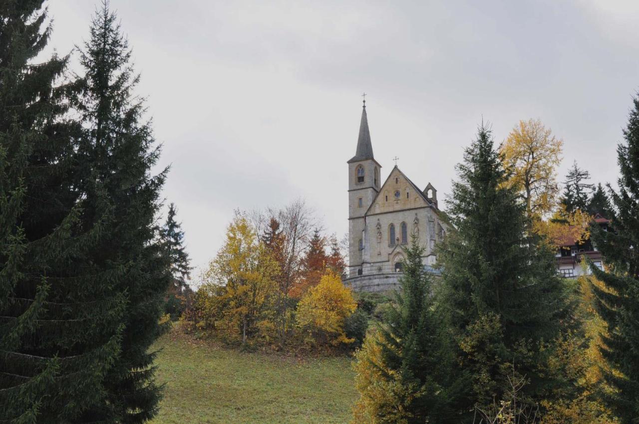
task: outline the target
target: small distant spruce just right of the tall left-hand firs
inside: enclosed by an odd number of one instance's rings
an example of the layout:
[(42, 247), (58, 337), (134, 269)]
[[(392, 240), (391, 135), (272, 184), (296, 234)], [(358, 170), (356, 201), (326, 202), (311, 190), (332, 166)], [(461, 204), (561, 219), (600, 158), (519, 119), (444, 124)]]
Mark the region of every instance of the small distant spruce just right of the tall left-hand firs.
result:
[(187, 287), (187, 278), (191, 269), (189, 254), (184, 246), (184, 231), (181, 223), (175, 220), (175, 205), (169, 205), (166, 223), (162, 228), (162, 241), (169, 255), (171, 263), (171, 275), (173, 276), (173, 291), (181, 292)]

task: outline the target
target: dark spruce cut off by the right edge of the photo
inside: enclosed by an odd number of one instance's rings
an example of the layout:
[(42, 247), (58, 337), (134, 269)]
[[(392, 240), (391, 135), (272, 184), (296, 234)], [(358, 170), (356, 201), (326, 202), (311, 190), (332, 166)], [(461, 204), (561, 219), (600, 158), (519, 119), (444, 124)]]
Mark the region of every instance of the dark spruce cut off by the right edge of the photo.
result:
[(606, 374), (613, 391), (604, 400), (622, 424), (639, 421), (639, 96), (633, 99), (625, 142), (617, 146), (619, 191), (609, 187), (615, 206), (612, 231), (592, 226), (592, 239), (603, 254), (606, 271), (591, 266), (608, 290), (592, 285), (597, 310), (608, 324), (601, 352), (615, 372)]

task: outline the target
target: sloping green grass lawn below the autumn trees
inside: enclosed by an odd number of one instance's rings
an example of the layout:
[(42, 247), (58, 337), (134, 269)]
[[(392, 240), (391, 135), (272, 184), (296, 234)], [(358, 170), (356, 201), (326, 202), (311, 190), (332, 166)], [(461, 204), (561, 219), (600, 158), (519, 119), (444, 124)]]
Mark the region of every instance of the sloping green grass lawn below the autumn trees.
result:
[(160, 423), (348, 423), (357, 398), (349, 358), (286, 358), (189, 340), (158, 340), (166, 383)]

